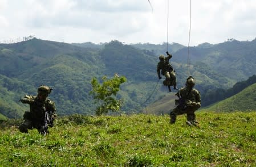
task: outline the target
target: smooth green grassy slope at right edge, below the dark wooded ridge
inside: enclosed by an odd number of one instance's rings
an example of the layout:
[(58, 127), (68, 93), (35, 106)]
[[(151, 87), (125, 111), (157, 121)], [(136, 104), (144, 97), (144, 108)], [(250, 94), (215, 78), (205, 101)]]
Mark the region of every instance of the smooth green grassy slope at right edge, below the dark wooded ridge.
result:
[(208, 111), (231, 112), (231, 111), (251, 111), (256, 108), (256, 83), (243, 89), (238, 94), (230, 98), (215, 103), (205, 108)]

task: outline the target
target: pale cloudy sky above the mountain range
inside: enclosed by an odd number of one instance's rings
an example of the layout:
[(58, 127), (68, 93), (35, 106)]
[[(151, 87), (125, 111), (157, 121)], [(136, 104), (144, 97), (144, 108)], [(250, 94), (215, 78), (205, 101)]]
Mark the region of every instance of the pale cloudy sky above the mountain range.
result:
[(251, 41), (256, 37), (256, 2), (0, 0), (0, 43), (30, 35), (43, 40), (96, 44), (119, 40), (125, 44), (168, 42), (196, 46), (227, 39)]

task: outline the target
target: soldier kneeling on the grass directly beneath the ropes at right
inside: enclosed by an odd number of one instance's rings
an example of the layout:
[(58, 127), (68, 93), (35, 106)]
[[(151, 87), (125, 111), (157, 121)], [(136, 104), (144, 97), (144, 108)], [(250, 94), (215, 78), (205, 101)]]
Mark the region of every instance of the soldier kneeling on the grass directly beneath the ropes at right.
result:
[(194, 87), (194, 78), (188, 77), (186, 80), (186, 86), (178, 90), (176, 95), (178, 100), (175, 101), (176, 108), (170, 111), (170, 123), (176, 122), (176, 116), (181, 114), (187, 115), (186, 124), (197, 126), (196, 114), (194, 112), (201, 107), (200, 92)]

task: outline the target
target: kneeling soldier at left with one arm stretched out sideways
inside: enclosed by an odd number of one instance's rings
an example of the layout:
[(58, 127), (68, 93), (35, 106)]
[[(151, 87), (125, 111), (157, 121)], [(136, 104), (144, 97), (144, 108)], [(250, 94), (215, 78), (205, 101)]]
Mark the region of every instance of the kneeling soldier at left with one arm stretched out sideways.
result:
[(25, 95), (21, 101), (30, 105), (30, 111), (26, 111), (23, 115), (23, 123), (19, 126), (19, 131), (27, 133), (28, 130), (36, 128), (40, 132), (42, 121), (46, 112), (51, 115), (51, 123), (48, 125), (53, 127), (54, 119), (56, 118), (56, 108), (53, 101), (47, 98), (51, 93), (52, 88), (42, 85), (38, 87), (38, 95)]

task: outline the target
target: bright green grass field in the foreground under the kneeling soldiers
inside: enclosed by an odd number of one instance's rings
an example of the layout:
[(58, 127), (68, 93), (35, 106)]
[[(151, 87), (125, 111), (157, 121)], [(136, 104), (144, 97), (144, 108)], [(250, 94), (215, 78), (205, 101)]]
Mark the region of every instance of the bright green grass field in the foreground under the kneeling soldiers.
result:
[(0, 166), (254, 166), (256, 113), (196, 112), (185, 116), (72, 115), (56, 120), (50, 135), (0, 124)]

